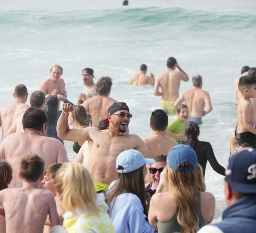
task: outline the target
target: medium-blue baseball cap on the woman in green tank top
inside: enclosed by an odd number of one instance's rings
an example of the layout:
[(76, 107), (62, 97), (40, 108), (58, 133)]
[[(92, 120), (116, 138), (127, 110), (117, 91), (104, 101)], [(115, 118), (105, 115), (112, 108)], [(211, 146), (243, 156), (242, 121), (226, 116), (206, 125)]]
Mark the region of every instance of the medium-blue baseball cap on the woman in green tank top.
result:
[[(191, 163), (192, 167), (180, 167), (181, 163)], [(175, 171), (192, 171), (197, 168), (197, 156), (192, 147), (177, 145), (168, 152), (167, 164)]]

